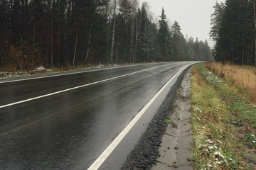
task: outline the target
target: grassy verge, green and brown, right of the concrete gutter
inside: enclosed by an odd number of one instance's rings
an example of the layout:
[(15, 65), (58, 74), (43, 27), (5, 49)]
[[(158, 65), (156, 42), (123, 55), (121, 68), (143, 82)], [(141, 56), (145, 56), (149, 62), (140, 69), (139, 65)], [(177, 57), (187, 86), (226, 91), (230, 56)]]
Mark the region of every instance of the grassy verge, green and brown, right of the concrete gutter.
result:
[(193, 168), (256, 169), (255, 67), (208, 62), (191, 73)]

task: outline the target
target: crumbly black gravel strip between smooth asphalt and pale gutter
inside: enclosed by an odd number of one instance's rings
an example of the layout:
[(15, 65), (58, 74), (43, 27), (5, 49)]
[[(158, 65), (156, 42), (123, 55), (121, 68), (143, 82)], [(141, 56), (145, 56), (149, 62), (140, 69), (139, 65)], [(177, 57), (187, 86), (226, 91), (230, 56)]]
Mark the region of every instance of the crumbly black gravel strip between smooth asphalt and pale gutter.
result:
[(169, 94), (167, 94), (156, 115), (149, 123), (138, 145), (127, 157), (127, 162), (122, 166), (122, 169), (151, 169), (159, 162), (157, 160), (161, 157), (159, 147), (161, 147), (161, 139), (167, 128), (164, 120), (169, 113), (174, 111), (173, 103), (176, 99), (176, 91), (181, 87), (183, 77), (191, 67), (193, 67), (193, 64), (183, 70), (176, 83), (171, 87)]

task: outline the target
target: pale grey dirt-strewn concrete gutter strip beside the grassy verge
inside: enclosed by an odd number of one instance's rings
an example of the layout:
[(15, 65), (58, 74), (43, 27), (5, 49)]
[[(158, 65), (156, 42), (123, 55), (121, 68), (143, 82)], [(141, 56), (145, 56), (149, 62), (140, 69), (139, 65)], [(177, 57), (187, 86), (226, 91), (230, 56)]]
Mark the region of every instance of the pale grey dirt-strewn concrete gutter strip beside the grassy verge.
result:
[(161, 157), (157, 159), (158, 163), (153, 166), (154, 170), (167, 169), (192, 169), (191, 166), (191, 148), (192, 131), (190, 108), (191, 95), (191, 69), (185, 74), (181, 82), (181, 88), (174, 105), (174, 112), (167, 116), (170, 120), (169, 125), (162, 137), (159, 153)]

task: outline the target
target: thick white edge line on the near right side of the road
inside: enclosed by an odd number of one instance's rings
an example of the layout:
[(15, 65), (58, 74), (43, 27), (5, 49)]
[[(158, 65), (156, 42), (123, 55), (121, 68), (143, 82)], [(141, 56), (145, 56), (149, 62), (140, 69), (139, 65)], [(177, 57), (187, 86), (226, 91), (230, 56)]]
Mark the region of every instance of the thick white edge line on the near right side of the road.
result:
[(113, 150), (117, 147), (117, 145), (119, 144), (119, 142), (122, 141), (122, 139), (125, 137), (125, 135), (127, 135), (127, 133), (129, 132), (129, 130), (132, 129), (132, 127), (135, 125), (135, 123), (137, 123), (137, 121), (139, 120), (139, 118), (142, 117), (142, 115), (145, 113), (145, 111), (149, 108), (149, 106), (151, 106), (151, 104), (156, 100), (156, 98), (161, 94), (162, 91), (164, 91), (164, 89), (166, 88), (166, 86), (168, 86), (168, 84), (174, 79), (174, 77), (176, 77), (176, 75), (181, 72), (183, 69), (185, 69), (186, 67), (190, 66), (191, 64), (186, 65), (185, 67), (183, 67), (182, 69), (180, 69), (176, 74), (174, 74), (173, 77), (171, 77), (171, 79), (169, 79), (169, 81), (156, 93), (156, 95), (151, 98), (151, 100), (149, 101), (149, 103), (146, 104), (146, 106), (144, 106), (144, 108), (142, 108), (142, 111), (140, 111), (135, 118), (127, 125), (126, 128), (124, 128), (124, 130), (122, 130), (122, 132), (114, 139), (114, 141), (110, 144), (109, 147), (107, 147), (107, 149), (105, 149), (105, 151), (100, 155), (100, 157), (98, 157), (96, 159), (96, 161), (89, 167), (88, 170), (96, 170), (99, 169), (100, 166), (103, 164), (103, 162), (105, 162), (105, 160), (107, 159), (107, 157), (110, 156), (110, 154), (113, 152)]

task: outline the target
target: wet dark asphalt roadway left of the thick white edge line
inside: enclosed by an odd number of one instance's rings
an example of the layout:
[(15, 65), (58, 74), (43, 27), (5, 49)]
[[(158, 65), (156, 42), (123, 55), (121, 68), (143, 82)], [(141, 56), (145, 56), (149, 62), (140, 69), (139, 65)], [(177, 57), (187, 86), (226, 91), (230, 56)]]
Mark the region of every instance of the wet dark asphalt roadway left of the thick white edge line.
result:
[[(157, 91), (190, 63), (1, 80), (0, 169), (87, 169)], [(85, 84), (90, 85), (6, 106)]]

